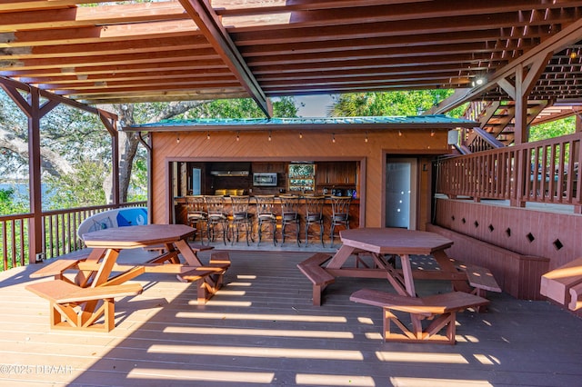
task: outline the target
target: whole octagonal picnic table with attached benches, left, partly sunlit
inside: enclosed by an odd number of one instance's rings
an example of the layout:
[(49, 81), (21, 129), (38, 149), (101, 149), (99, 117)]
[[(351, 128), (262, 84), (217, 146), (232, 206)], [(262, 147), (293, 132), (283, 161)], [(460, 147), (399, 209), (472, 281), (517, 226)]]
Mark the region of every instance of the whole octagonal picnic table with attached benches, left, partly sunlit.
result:
[[(211, 247), (190, 245), (187, 239), (194, 233), (196, 229), (184, 224), (148, 224), (85, 233), (85, 244), (91, 249), (86, 256), (46, 265), (31, 278), (55, 279), (32, 283), (26, 289), (49, 300), (52, 327), (106, 332), (115, 326), (115, 297), (141, 293), (141, 285), (126, 282), (142, 273), (171, 273), (181, 281), (196, 282), (198, 302), (204, 303), (220, 287), (230, 261), (226, 253), (220, 253), (203, 264), (197, 252)], [(117, 263), (122, 250), (160, 245), (164, 248), (156, 249), (159, 255), (146, 263)], [(101, 317), (105, 323), (98, 323)]]

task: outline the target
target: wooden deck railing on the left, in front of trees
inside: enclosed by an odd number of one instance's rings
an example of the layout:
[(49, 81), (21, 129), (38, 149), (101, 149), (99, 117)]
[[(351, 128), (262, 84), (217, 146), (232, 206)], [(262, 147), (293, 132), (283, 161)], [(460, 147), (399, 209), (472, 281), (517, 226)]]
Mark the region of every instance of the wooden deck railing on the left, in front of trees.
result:
[[(76, 230), (86, 218), (114, 208), (136, 207), (146, 202), (123, 203), (119, 205), (95, 205), (92, 207), (71, 208), (43, 213), (43, 255), (54, 258), (72, 253), (85, 247), (76, 235)], [(0, 271), (15, 266), (23, 266), (28, 257), (28, 220), (32, 213), (0, 216)]]

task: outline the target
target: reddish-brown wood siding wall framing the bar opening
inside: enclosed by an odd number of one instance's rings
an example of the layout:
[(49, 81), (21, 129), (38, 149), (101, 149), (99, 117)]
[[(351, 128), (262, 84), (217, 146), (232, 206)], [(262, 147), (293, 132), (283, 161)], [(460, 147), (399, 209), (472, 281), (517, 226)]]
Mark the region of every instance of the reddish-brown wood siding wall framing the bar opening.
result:
[[(386, 154), (419, 156), (417, 213), (418, 228), (423, 229), (430, 213), (430, 164), (433, 155), (447, 153), (447, 130), (436, 130), (433, 135), (427, 129), (374, 131), (366, 134), (332, 133), (299, 130), (273, 131), (271, 141), (267, 132), (158, 132), (152, 134), (152, 220), (168, 223), (170, 220), (170, 182), (167, 179), (171, 161), (360, 161), (358, 178), (360, 226), (381, 227), (384, 224)], [(179, 139), (179, 141), (178, 141)], [(363, 172), (363, 174), (361, 174)]]

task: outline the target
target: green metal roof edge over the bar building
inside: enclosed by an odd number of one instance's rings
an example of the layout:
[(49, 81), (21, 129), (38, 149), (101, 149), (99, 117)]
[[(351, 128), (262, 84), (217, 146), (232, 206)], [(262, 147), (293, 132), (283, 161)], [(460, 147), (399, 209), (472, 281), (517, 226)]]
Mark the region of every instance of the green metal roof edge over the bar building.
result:
[(195, 120), (164, 120), (155, 124), (138, 124), (125, 128), (125, 130), (148, 131), (148, 130), (170, 130), (187, 128), (209, 128), (214, 129), (232, 129), (233, 127), (271, 127), (271, 128), (289, 128), (290, 126), (327, 126), (337, 125), (381, 125), (390, 126), (437, 126), (437, 127), (474, 127), (478, 124), (462, 119), (451, 118), (446, 115), (408, 115), (408, 116), (381, 116), (381, 117), (324, 117), (324, 118), (208, 118)]

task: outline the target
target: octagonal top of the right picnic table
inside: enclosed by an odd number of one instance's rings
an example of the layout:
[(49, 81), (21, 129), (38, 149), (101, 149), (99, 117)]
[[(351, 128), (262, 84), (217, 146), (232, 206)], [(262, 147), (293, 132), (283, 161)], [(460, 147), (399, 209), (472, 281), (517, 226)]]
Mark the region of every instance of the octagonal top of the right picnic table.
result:
[(430, 255), (453, 244), (437, 233), (400, 228), (356, 228), (339, 235), (347, 246), (382, 254)]

